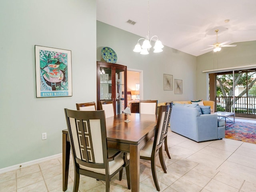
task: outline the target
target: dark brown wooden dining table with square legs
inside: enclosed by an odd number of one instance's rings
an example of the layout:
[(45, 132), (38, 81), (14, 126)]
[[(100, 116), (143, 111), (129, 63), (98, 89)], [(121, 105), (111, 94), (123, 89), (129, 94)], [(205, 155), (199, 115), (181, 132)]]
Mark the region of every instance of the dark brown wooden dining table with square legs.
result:
[[(140, 150), (155, 133), (157, 115), (128, 115), (130, 122), (124, 122), (127, 116), (118, 114), (106, 118), (108, 148), (130, 153), (130, 178), (132, 192), (140, 191)], [(62, 170), (63, 191), (68, 187), (68, 168), (70, 158), (70, 142), (68, 130), (62, 130)]]

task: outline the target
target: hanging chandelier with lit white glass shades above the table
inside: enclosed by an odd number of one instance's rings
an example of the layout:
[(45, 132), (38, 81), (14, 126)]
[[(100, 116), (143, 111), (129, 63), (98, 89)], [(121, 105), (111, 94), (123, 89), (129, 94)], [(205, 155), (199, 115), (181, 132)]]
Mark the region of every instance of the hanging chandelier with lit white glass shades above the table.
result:
[[(142, 46), (140, 46), (139, 41), (144, 40)], [(155, 41), (155, 46), (154, 46), (154, 53), (159, 53), (162, 52), (162, 48), (164, 47), (162, 45), (162, 42), (158, 39), (158, 36), (154, 35), (150, 38), (149, 36), (149, 0), (148, 0), (148, 35), (146, 38), (140, 38), (137, 42), (137, 44), (134, 47), (134, 52), (138, 52), (142, 55), (147, 55), (148, 51), (150, 50), (151, 46), (151, 41)]]

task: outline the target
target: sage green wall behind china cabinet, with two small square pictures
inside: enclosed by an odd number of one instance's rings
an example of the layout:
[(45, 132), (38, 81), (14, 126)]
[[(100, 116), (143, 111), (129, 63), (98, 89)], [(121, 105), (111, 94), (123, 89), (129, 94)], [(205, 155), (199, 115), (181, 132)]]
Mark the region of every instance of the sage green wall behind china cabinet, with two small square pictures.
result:
[[(144, 100), (158, 102), (196, 99), (196, 57), (165, 46), (163, 52), (141, 55), (135, 53), (135, 44), (141, 38), (116, 27), (97, 21), (97, 60), (103, 47), (112, 48), (117, 54), (117, 63), (127, 68), (143, 70)], [(163, 89), (163, 74), (172, 74), (183, 80), (183, 94)]]

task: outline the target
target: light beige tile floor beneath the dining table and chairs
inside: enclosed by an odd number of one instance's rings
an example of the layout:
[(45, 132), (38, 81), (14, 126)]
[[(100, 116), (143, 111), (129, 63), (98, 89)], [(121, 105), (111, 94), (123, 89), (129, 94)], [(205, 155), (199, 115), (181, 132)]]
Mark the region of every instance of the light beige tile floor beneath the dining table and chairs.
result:
[[(236, 119), (254, 122), (256, 120)], [(157, 176), (162, 192), (255, 192), (256, 144), (223, 138), (194, 142), (169, 132), (168, 148), (172, 159), (165, 156), (167, 173), (157, 161)], [(72, 161), (72, 158), (71, 158)], [(140, 163), (140, 192), (156, 191), (150, 162)], [(73, 162), (70, 162), (68, 190), (72, 192)], [(122, 181), (118, 174), (111, 180), (111, 192), (128, 192), (124, 169)], [(104, 192), (105, 184), (81, 176), (79, 192)], [(0, 192), (62, 192), (62, 159), (0, 174)]]

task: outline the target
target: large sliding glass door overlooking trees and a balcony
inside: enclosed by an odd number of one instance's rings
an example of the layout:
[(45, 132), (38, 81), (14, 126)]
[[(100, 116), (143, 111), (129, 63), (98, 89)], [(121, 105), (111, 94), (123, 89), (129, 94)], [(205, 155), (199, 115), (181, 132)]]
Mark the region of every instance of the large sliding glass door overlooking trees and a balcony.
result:
[(209, 75), (209, 78), (212, 82), (210, 89), (215, 88), (210, 100), (216, 101), (216, 111), (256, 118), (256, 69), (218, 72)]

